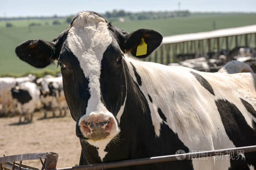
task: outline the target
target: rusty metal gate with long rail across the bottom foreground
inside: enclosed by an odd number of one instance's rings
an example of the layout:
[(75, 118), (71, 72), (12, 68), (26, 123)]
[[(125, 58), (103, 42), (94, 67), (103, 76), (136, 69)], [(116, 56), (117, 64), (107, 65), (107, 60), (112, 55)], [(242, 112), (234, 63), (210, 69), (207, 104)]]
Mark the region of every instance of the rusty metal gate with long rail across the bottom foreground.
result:
[[(107, 163), (97, 163), (91, 165), (83, 165), (83, 166), (73, 166), (73, 167), (64, 167), (56, 169), (57, 161), (59, 155), (54, 152), (46, 152), (46, 153), (31, 153), (31, 154), (20, 154), (20, 155), (11, 155), (0, 157), (0, 170), (40, 170), (37, 167), (24, 165), (22, 161), (26, 160), (39, 160), (42, 163), (41, 170), (97, 170), (97, 169), (109, 169), (115, 167), (124, 167), (124, 166), (133, 166), (133, 165), (143, 165), (150, 163), (159, 163), (159, 162), (168, 162), (168, 161), (179, 161), (185, 159), (196, 159), (203, 157), (213, 157), (218, 155), (230, 155), (239, 154), (240, 151), (243, 153), (255, 152), (255, 146), (246, 146), (246, 147), (236, 147), (231, 149), (221, 149), (221, 150), (211, 150), (211, 151), (201, 151), (195, 153), (184, 153), (184, 154), (176, 154), (176, 155), (166, 155), (160, 157), (151, 157), (151, 158), (141, 158), (141, 159), (131, 159), (125, 161), (115, 161), (115, 162), (107, 162)], [(182, 158), (182, 159), (181, 159)], [(43, 162), (44, 159), (44, 162)], [(16, 162), (19, 163), (16, 163)]]

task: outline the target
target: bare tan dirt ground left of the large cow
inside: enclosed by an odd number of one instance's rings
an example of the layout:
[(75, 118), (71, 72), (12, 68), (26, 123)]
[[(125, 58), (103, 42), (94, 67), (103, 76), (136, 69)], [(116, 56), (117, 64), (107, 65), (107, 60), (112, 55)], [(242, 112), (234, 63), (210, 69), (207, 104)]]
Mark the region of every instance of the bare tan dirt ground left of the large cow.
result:
[[(0, 118), (0, 157), (53, 151), (59, 154), (57, 168), (78, 165), (81, 147), (75, 135), (75, 121), (69, 113), (61, 118), (41, 119), (43, 115), (34, 113), (33, 122), (28, 124), (17, 124), (18, 116)], [(22, 163), (42, 167), (39, 160)]]

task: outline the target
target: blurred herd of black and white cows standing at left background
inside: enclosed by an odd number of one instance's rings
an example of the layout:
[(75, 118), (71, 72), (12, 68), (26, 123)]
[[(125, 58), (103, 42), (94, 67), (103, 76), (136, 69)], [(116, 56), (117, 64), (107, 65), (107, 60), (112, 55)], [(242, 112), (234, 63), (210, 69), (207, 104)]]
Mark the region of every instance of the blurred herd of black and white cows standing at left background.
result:
[(67, 112), (67, 103), (63, 92), (62, 77), (53, 77), (51, 75), (36, 79), (34, 75), (26, 77), (0, 78), (0, 115), (13, 115), (19, 112), (19, 123), (31, 122), (33, 112), (37, 109), (44, 109), (44, 118), (46, 111), (52, 110), (53, 117), (55, 110), (60, 110), (60, 116), (64, 110), (64, 116)]

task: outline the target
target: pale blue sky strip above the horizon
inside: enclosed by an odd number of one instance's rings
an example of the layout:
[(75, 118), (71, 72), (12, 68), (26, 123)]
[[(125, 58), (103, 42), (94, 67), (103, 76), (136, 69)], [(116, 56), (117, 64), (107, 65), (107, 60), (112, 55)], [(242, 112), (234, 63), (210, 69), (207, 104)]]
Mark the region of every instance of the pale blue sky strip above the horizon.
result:
[(256, 0), (1, 0), (0, 17), (66, 16), (79, 11), (104, 13), (113, 9), (125, 11), (222, 11), (256, 12)]

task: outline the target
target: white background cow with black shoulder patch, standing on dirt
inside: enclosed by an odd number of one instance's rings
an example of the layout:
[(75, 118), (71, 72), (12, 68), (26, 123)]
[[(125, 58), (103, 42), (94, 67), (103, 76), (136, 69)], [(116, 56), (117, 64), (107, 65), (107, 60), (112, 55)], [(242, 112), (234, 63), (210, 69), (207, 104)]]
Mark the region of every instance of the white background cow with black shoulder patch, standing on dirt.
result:
[(24, 122), (31, 122), (33, 112), (36, 108), (41, 107), (40, 91), (37, 84), (31, 82), (21, 83), (19, 86), (12, 88), (12, 97), (17, 100), (19, 111), (19, 123), (24, 115)]

